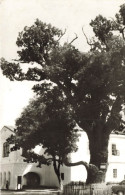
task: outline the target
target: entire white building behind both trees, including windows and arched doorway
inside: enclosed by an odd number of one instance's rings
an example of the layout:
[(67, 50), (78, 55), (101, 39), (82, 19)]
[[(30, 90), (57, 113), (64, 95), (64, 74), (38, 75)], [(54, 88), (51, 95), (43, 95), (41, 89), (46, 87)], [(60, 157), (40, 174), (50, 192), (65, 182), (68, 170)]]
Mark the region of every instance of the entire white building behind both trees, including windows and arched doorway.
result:
[[(6, 183), (9, 183), (9, 189), (20, 189), (25, 186), (50, 186), (58, 187), (57, 176), (53, 165), (43, 165), (42, 168), (36, 167), (36, 164), (23, 161), (22, 150), (8, 153), (9, 146), (6, 139), (13, 134), (13, 128), (4, 126), (0, 131), (0, 187), (6, 189)], [(84, 144), (83, 144), (84, 143)], [(71, 154), (72, 162), (89, 162), (89, 141), (85, 132), (81, 133), (78, 142), (79, 150)], [(43, 149), (36, 147), (36, 151), (41, 154)], [(110, 135), (109, 157), (106, 182), (119, 182), (125, 179), (125, 134)], [(84, 166), (61, 167), (61, 174), (64, 177), (64, 184), (70, 181), (86, 181), (87, 172)]]

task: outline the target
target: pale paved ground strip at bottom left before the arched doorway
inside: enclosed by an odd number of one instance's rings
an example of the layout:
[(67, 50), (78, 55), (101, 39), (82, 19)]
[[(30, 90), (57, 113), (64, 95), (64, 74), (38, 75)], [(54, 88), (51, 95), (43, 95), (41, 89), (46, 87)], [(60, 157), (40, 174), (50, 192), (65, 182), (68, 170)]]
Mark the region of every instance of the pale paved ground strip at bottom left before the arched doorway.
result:
[(25, 190), (25, 191), (1, 191), (0, 195), (61, 195), (62, 193), (58, 190)]

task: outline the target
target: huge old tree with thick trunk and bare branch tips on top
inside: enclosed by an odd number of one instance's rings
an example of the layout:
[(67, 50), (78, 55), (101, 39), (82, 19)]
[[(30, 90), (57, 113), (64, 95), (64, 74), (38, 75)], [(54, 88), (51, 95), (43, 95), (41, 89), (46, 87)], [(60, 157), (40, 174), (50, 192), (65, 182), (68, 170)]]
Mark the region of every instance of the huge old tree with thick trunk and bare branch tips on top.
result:
[[(124, 126), (125, 5), (115, 19), (99, 15), (90, 25), (95, 37), (89, 41), (83, 31), (90, 51), (82, 53), (73, 46), (75, 39), (61, 45), (61, 30), (36, 20), (19, 33), (18, 62), (2, 59), (1, 68), (10, 80), (39, 81), (33, 87), (37, 95), (46, 96), (46, 91), (52, 90), (53, 84), (45, 85), (46, 80), (55, 84), (72, 110), (72, 120), (88, 135), (90, 164), (100, 170), (101, 163), (108, 160), (110, 133)], [(26, 73), (21, 69), (25, 63), (30, 65)], [(104, 176), (105, 171), (102, 179)], [(88, 169), (87, 182), (95, 180)]]

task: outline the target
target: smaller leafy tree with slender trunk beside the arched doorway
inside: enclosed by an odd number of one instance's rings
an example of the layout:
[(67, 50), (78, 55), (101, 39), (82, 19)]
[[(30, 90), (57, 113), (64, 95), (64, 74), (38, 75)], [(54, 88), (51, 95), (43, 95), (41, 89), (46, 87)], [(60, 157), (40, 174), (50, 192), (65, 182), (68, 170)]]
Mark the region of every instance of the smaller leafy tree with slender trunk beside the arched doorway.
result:
[[(15, 134), (7, 139), (14, 144), (11, 151), (23, 149), (25, 162), (37, 163), (38, 167), (53, 164), (59, 184), (60, 167), (70, 166), (70, 154), (77, 151), (79, 137), (72, 111), (63, 99), (55, 87), (34, 98), (16, 120)], [(38, 145), (43, 148), (39, 154), (34, 151)]]

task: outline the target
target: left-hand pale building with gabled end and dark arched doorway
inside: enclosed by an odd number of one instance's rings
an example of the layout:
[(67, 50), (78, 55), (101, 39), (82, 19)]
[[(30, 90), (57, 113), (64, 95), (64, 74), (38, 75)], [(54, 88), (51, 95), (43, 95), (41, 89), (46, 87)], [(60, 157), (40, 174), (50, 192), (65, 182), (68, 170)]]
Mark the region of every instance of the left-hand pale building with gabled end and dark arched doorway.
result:
[[(54, 172), (53, 165), (42, 165), (38, 168), (37, 163), (26, 163), (23, 161), (22, 149), (9, 152), (11, 145), (6, 139), (14, 134), (13, 128), (4, 126), (0, 131), (0, 187), (6, 189), (8, 182), (9, 189), (21, 189), (22, 187), (36, 188), (40, 186), (58, 187), (58, 179)], [(36, 148), (38, 153), (42, 148)], [(64, 184), (71, 181), (70, 168), (61, 167)]]

